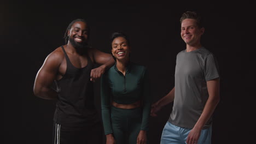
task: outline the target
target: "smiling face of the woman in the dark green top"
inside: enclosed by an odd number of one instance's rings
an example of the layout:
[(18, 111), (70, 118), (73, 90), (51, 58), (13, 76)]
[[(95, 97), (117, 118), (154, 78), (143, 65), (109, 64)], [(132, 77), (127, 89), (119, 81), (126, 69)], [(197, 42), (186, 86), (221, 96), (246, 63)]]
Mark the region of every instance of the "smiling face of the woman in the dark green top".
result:
[(118, 61), (129, 61), (131, 49), (124, 37), (117, 37), (112, 41), (111, 52)]

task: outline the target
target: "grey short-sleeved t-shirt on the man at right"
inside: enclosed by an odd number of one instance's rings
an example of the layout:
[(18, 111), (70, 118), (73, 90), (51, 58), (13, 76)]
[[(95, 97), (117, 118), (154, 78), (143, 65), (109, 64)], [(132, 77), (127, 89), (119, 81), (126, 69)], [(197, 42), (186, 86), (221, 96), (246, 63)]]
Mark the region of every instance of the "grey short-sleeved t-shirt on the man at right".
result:
[[(193, 128), (209, 97), (206, 82), (219, 77), (213, 54), (200, 49), (178, 53), (175, 68), (173, 109), (168, 121), (178, 127)], [(203, 128), (211, 125), (212, 118)]]

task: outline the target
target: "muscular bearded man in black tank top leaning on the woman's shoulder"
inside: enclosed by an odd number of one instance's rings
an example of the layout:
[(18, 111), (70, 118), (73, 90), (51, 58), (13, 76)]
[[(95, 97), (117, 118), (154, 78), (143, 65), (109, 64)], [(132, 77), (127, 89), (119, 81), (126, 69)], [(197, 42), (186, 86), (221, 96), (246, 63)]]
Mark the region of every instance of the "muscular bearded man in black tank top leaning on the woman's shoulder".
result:
[[(37, 97), (57, 100), (53, 143), (102, 143), (92, 82), (114, 64), (114, 59), (88, 47), (88, 37), (85, 20), (72, 21), (65, 33), (66, 45), (46, 57), (34, 81)], [(94, 69), (94, 63), (100, 67)], [(56, 89), (51, 88), (54, 82)]]

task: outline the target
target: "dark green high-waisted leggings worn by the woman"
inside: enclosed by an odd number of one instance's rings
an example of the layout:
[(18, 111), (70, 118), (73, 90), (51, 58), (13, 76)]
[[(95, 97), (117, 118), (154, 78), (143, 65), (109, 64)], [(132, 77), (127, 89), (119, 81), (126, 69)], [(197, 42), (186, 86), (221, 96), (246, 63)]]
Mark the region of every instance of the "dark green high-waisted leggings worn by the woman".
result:
[(120, 109), (111, 107), (111, 121), (114, 139), (117, 144), (136, 144), (141, 130), (142, 109)]

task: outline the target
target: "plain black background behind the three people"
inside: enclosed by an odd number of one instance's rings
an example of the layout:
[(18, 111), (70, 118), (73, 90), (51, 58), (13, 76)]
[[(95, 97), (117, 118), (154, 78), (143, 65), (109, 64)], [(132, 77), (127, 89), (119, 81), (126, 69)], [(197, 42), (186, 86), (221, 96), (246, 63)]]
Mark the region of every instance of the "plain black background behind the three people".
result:
[[(255, 2), (53, 2), (1, 2), (4, 143), (51, 143), (55, 101), (35, 97), (33, 82), (45, 57), (65, 44), (62, 37), (72, 20), (88, 21), (89, 43), (103, 52), (110, 53), (111, 33), (125, 32), (131, 41), (131, 61), (149, 69), (155, 102), (174, 86), (176, 55), (185, 49), (179, 18), (187, 10), (202, 15), (202, 45), (214, 53), (220, 68), (221, 99), (213, 114), (212, 143), (255, 141)], [(100, 112), (99, 91), (96, 81)], [(172, 104), (166, 105), (158, 117), (150, 118), (150, 143), (160, 142), (171, 110)]]

